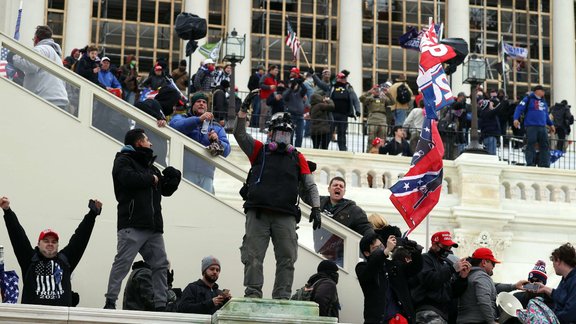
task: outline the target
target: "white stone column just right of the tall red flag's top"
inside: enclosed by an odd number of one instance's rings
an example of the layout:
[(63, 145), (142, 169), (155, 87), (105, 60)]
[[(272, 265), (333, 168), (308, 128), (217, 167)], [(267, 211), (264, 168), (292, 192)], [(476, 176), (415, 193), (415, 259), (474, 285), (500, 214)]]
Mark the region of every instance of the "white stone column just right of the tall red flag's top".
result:
[[(458, 37), (470, 44), (470, 4), (469, 1), (449, 0), (448, 19), (445, 22), (446, 37)], [(450, 76), (452, 93), (464, 91), (470, 95), (470, 85), (462, 83), (462, 65)]]

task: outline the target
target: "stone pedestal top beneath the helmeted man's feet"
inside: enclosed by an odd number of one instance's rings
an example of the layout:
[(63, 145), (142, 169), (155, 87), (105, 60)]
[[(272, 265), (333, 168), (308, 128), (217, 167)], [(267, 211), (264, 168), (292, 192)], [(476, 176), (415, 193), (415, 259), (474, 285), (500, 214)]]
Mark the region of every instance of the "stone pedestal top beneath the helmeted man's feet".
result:
[(212, 323), (338, 323), (337, 318), (320, 317), (318, 312), (314, 302), (232, 298), (212, 315)]

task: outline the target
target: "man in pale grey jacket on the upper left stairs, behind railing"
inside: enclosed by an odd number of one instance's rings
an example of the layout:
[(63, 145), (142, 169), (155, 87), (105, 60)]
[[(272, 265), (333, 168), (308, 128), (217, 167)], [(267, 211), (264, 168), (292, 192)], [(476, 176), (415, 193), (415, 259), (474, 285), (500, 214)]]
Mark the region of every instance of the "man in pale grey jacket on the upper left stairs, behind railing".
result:
[[(34, 32), (34, 51), (59, 66), (63, 66), (62, 49), (52, 39), (52, 29), (50, 27), (36, 27)], [(62, 109), (68, 108), (68, 93), (63, 80), (13, 53), (9, 54), (8, 62), (26, 74), (24, 88)]]

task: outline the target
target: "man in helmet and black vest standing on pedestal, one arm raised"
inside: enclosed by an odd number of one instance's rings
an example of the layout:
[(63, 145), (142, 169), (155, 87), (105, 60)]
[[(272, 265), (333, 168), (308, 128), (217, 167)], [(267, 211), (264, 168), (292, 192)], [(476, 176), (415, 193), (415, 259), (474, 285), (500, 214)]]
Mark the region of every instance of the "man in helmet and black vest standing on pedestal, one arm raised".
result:
[(252, 165), (240, 191), (246, 213), (246, 234), (240, 248), (244, 295), (262, 298), (262, 264), (272, 238), (276, 257), (272, 298), (289, 299), (298, 257), (299, 185), (302, 184), (312, 206), (310, 222), (314, 222), (314, 230), (320, 228), (320, 198), (306, 158), (290, 142), (294, 125), (288, 113), (272, 116), (266, 143), (246, 133), (246, 110), (255, 95), (257, 92), (252, 92), (244, 100), (234, 126), (234, 137)]

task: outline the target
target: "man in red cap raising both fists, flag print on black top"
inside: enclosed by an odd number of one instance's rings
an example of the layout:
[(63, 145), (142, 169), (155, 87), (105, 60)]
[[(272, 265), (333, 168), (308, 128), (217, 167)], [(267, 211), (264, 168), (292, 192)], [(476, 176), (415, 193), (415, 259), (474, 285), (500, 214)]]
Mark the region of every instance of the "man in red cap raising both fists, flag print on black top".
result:
[(0, 207), (4, 210), (6, 229), (22, 271), (22, 304), (73, 306), (70, 275), (86, 250), (96, 216), (102, 211), (102, 203), (90, 200), (90, 211), (68, 245), (60, 251), (59, 236), (51, 229), (40, 232), (38, 245), (32, 248), (7, 197), (0, 198)]

